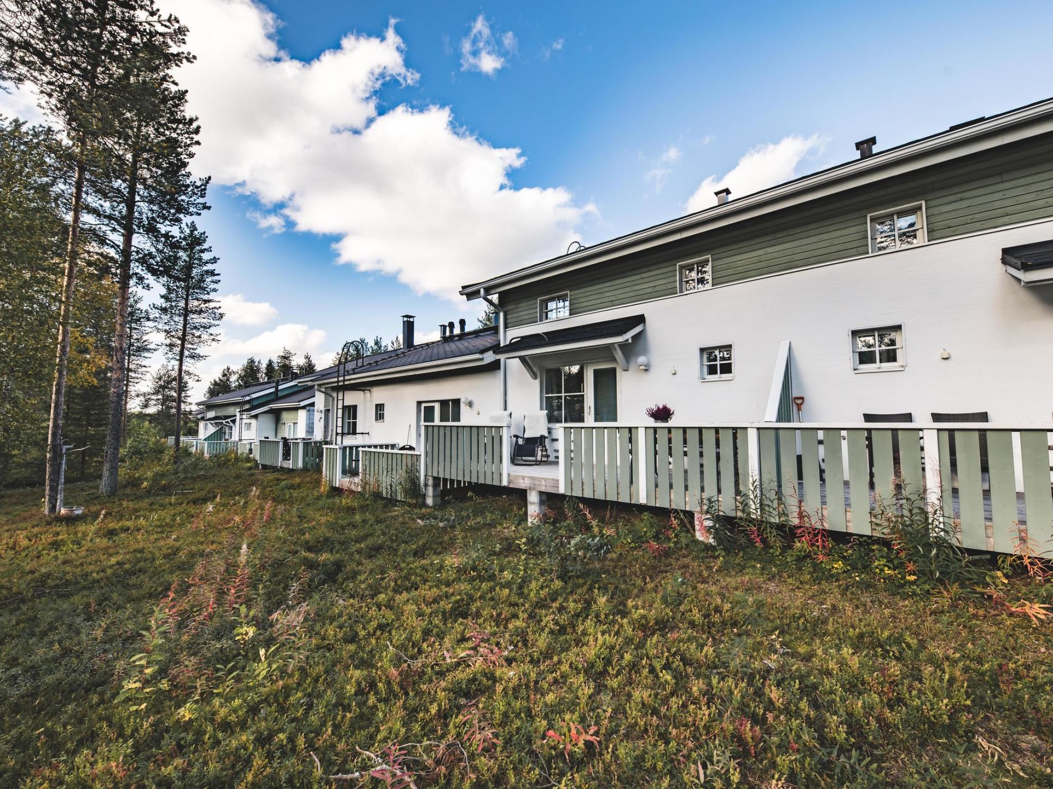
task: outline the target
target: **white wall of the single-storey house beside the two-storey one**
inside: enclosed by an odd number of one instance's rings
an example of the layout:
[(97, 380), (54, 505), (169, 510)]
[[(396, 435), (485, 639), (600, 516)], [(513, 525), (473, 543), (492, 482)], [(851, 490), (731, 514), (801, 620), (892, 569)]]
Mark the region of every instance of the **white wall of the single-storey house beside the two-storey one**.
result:
[[(469, 398), (471, 406), (461, 404), (460, 424), (491, 424), (490, 414), (500, 409), (501, 379), (497, 370), (470, 372), (426, 380), (392, 383), (363, 383), (370, 391), (349, 391), (344, 403), (358, 405), (358, 436), (345, 436), (346, 444), (412, 444), (419, 447), (419, 404), (435, 400)], [(322, 436), (323, 394), (317, 396), (315, 434)], [(374, 406), (384, 404), (384, 421), (374, 420)], [(332, 404), (336, 424), (336, 405)], [(367, 431), (369, 434), (362, 434)]]

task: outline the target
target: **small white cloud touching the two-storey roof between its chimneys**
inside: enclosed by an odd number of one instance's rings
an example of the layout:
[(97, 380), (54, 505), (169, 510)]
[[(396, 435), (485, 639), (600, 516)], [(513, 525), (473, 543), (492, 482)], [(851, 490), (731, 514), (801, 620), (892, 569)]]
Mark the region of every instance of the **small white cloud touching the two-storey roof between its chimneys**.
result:
[(738, 163), (722, 178), (710, 176), (699, 184), (686, 204), (689, 213), (716, 205), (713, 193), (719, 188), (731, 189), (733, 198), (789, 181), (797, 175), (797, 165), (806, 158), (822, 153), (826, 138), (818, 135), (799, 137), (792, 135), (775, 143), (766, 143), (748, 150)]

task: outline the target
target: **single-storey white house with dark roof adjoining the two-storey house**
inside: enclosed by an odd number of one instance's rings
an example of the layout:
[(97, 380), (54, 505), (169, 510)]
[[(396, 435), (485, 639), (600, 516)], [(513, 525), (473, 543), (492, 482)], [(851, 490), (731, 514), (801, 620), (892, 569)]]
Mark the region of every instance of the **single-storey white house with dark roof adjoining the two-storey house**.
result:
[(489, 424), (500, 409), (498, 329), (459, 330), (451, 322), (434, 342), (414, 342), (402, 317), (402, 347), (353, 359), (299, 379), (317, 392), (315, 436), (336, 444), (419, 446), (430, 423)]

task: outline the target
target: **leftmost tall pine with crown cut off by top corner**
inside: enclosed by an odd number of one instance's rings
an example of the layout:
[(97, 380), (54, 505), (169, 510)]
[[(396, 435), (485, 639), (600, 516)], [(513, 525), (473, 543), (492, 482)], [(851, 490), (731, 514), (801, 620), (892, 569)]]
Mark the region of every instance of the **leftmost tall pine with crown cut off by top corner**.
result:
[(73, 182), (55, 372), (47, 429), (44, 511), (55, 514), (62, 468), (62, 422), (73, 325), (85, 180), (98, 166), (98, 142), (114, 132), (108, 110), (126, 87), (123, 69), (151, 0), (3, 0), (0, 4), (0, 74), (36, 89), (42, 107), (71, 140)]

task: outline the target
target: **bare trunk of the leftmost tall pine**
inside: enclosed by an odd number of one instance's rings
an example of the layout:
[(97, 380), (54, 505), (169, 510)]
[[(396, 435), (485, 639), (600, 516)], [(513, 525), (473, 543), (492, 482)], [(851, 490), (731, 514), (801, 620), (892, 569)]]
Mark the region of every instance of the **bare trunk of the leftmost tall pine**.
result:
[(73, 295), (80, 246), (80, 213), (84, 202), (85, 148), (87, 135), (77, 140), (77, 171), (73, 183), (73, 210), (66, 242), (65, 269), (62, 272), (62, 304), (59, 309), (59, 339), (55, 350), (55, 381), (52, 386), (52, 411), (47, 422), (47, 470), (44, 477), (44, 514), (58, 513), (62, 476), (62, 412), (65, 407), (66, 361), (69, 358), (69, 326), (73, 322)]

